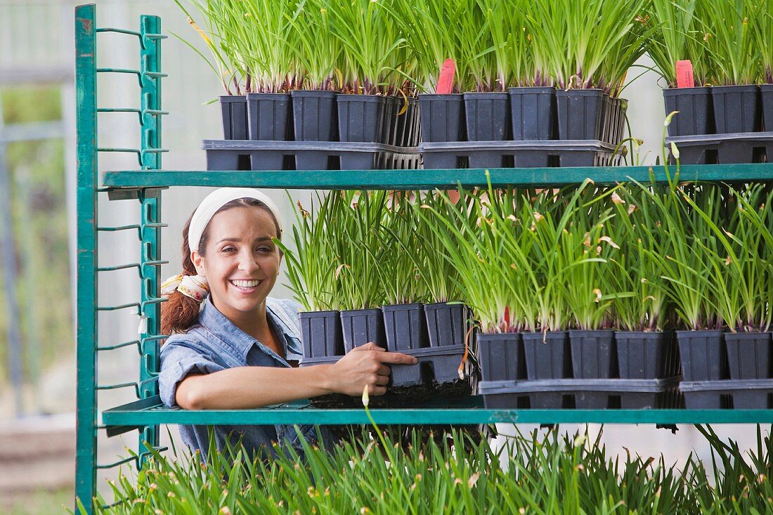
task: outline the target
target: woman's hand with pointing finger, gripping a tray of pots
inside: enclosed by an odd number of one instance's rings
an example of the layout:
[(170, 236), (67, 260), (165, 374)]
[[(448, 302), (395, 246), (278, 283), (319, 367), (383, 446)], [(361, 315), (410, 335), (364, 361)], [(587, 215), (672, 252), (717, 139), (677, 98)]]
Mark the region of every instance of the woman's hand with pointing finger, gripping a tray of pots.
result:
[(388, 353), (370, 342), (355, 347), (330, 367), (332, 390), (347, 395), (362, 395), (366, 385), (368, 394), (386, 394), (390, 364), (414, 365), (419, 360), (402, 353)]

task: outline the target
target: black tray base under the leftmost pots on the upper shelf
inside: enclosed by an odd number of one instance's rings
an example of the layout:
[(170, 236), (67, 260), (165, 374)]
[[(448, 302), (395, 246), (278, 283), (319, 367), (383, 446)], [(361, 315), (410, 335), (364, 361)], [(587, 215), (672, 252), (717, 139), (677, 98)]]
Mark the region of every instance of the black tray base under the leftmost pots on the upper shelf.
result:
[(208, 170), (417, 169), (416, 147), (361, 142), (261, 142), (205, 139)]

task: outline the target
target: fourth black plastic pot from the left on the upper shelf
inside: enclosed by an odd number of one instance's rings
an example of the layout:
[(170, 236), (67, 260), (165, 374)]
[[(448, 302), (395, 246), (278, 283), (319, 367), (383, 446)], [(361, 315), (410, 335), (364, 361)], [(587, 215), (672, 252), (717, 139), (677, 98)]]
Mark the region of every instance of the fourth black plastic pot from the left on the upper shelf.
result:
[(386, 110), (386, 98), (378, 95), (344, 95), (336, 99), (339, 139), (342, 142), (380, 143)]

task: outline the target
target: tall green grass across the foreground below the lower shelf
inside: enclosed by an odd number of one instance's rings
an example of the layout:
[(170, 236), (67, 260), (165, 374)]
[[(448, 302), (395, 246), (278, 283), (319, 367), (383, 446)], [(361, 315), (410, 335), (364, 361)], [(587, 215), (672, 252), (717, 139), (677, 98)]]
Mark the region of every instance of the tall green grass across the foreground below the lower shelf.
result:
[[(773, 444), (758, 430), (744, 452), (700, 428), (711, 465), (691, 456), (611, 457), (601, 435), (537, 431), (495, 450), (453, 431), (404, 451), (388, 435), (248, 462), (239, 452), (165, 457), (111, 483), (116, 506), (96, 513), (770, 513)], [(382, 438), (383, 437), (383, 438)], [(182, 459), (181, 459), (182, 458)], [(82, 513), (85, 513), (82, 510)]]

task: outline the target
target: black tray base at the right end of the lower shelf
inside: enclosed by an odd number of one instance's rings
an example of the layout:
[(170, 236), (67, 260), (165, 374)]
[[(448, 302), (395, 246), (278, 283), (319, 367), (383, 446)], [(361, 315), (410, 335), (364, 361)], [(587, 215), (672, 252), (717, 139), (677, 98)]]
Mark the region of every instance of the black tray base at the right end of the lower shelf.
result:
[(687, 409), (767, 409), (773, 379), (686, 381), (679, 389)]

